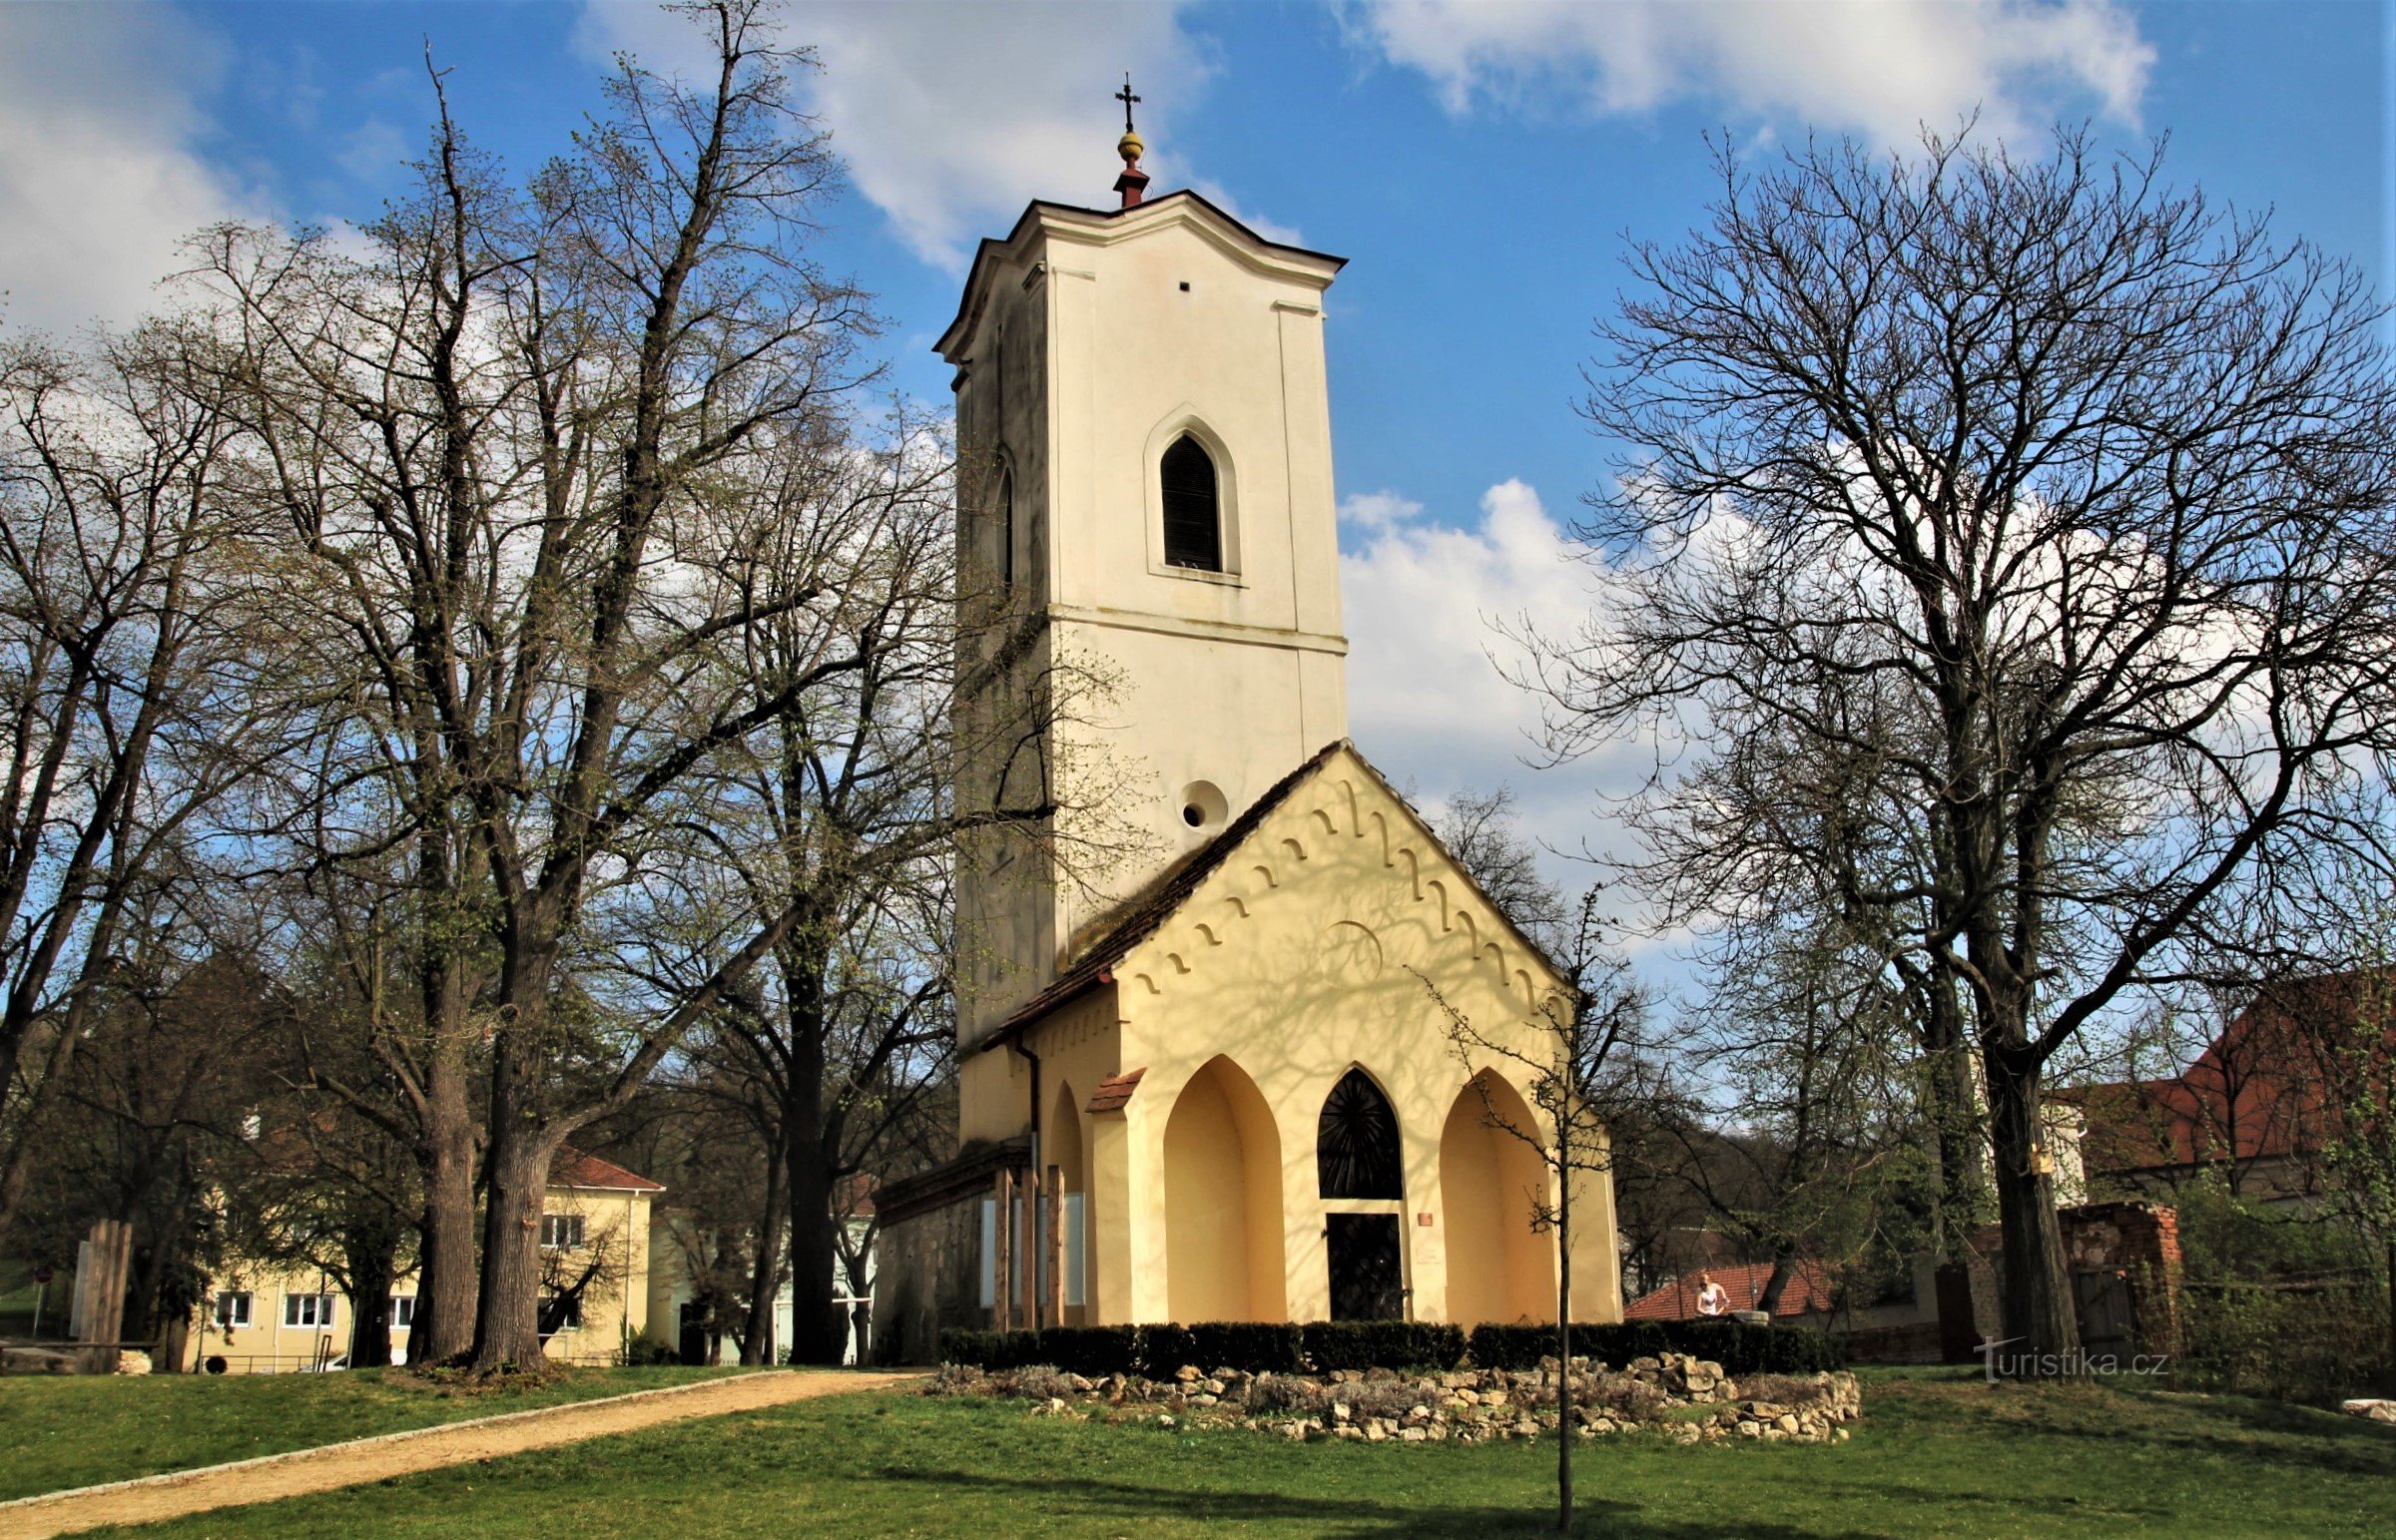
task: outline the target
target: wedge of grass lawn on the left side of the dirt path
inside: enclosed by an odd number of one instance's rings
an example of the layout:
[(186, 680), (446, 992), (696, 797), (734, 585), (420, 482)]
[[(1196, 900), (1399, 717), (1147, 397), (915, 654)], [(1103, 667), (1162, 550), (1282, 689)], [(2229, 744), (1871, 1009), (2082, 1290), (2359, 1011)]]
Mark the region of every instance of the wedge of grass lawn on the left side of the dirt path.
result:
[(0, 1499), (187, 1471), (369, 1432), (621, 1396), (724, 1370), (568, 1370), (539, 1387), (426, 1387), (350, 1375), (10, 1375), (0, 1380)]

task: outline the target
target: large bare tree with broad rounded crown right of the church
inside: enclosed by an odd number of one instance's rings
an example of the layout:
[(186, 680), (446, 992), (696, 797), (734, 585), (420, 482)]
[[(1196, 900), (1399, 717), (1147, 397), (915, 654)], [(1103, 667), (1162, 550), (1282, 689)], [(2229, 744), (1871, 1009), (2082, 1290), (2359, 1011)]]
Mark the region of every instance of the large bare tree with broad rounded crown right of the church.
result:
[[(1711, 228), (1636, 247), (1601, 328), (1608, 592), (1541, 661), (1560, 754), (1847, 750), (1840, 685), (1900, 707), (1874, 769), (1924, 838), (1864, 896), (1893, 958), (1962, 992), (2032, 1365), (2077, 1344), (2049, 1061), (2132, 992), (2219, 972), (2291, 865), (2384, 857), (2353, 800), (2396, 742), (2379, 311), (2159, 172), (2080, 134), (2044, 160), (1725, 153)], [(1699, 802), (1684, 769), (1632, 810), (1668, 920), (1718, 913), (1749, 855)]]

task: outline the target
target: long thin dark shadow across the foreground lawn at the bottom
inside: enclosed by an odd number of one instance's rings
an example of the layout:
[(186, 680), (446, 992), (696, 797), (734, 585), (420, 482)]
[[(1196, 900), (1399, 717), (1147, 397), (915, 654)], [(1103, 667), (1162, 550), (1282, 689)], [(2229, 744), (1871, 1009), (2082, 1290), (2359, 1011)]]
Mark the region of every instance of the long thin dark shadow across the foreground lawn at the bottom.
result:
[[(884, 1468), (882, 1480), (922, 1483), (956, 1492), (1018, 1492), (1052, 1509), (1081, 1509), (1114, 1518), (1196, 1518), (1205, 1523), (1289, 1523), (1308, 1535), (1430, 1535), (1433, 1540), (1490, 1540), (1490, 1535), (1553, 1535), (1555, 1511), (1533, 1506), (1402, 1506), (1356, 1497), (1306, 1497), (1296, 1492), (1227, 1492), (1143, 1487), (1109, 1480), (1030, 1480), (973, 1471)], [(1639, 1540), (1716, 1540), (1716, 1521), (1665, 1523), (1634, 1506), (1584, 1497), (1572, 1514), (1574, 1535), (1632, 1535)], [(1749, 1540), (1821, 1540), (1828, 1530), (1742, 1523)], [(1835, 1530), (1855, 1535), (1859, 1530)]]

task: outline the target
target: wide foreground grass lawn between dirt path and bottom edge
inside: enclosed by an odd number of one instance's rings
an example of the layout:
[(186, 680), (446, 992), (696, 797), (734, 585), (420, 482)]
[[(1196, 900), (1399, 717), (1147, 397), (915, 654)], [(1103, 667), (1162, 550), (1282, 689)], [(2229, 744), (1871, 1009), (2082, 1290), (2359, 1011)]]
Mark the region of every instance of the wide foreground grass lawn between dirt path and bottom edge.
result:
[[(1579, 1447), (1584, 1535), (2384, 1535), (2396, 1430), (2108, 1384), (1876, 1377), (1843, 1447)], [(1433, 1535), (1553, 1523), (1553, 1444), (1287, 1444), (855, 1394), (139, 1530)], [(132, 1533), (132, 1530), (122, 1530)]]

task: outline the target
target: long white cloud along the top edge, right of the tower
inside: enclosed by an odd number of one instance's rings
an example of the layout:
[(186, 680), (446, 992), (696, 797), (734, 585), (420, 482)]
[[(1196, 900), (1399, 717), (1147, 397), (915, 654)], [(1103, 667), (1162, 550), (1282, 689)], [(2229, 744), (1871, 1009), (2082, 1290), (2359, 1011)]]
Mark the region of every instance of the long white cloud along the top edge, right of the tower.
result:
[(1344, 24), (1457, 115), (1696, 101), (1888, 144), (1972, 110), (1996, 134), (2058, 110), (2137, 122), (2154, 67), (2118, 0), (1392, 0)]

